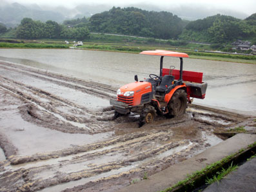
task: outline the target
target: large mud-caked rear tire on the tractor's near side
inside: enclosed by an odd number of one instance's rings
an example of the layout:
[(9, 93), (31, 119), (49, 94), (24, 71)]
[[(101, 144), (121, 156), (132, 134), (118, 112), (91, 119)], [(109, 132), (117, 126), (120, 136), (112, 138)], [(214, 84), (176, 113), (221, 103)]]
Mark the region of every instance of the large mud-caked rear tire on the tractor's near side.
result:
[(177, 90), (169, 101), (168, 110), (170, 117), (176, 117), (186, 113), (188, 97), (184, 90)]

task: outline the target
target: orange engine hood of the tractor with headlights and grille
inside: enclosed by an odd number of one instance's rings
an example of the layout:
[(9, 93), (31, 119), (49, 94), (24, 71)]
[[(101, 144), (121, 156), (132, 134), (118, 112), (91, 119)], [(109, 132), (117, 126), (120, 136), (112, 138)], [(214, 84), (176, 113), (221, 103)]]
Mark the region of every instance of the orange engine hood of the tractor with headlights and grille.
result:
[(152, 100), (152, 84), (150, 82), (132, 82), (117, 90), (117, 101), (129, 106), (148, 103)]

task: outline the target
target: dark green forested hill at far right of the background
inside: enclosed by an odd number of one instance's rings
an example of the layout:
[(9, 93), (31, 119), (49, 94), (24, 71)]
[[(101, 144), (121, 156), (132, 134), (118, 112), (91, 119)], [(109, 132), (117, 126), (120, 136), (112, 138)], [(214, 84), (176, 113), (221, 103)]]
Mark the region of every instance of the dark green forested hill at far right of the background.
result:
[(205, 19), (191, 21), (179, 37), (186, 41), (211, 43), (226, 43), (236, 39), (255, 39), (256, 14), (244, 20), (217, 14)]

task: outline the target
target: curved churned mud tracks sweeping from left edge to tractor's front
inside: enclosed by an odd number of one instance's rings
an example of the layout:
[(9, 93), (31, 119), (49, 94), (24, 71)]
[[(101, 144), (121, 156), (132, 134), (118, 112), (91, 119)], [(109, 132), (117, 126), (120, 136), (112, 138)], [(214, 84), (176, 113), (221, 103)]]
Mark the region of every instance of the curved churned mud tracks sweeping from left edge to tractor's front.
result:
[[(44, 120), (47, 118), (39, 117), (37, 115), (37, 111), (41, 111), (37, 106), (41, 106), (44, 110), (43, 115), (45, 116), (52, 116), (47, 111), (50, 111), (52, 113), (61, 115), (64, 119), (70, 122), (76, 122), (79, 124), (85, 124), (87, 127), (90, 126), (89, 130), (79, 129), (75, 126), (72, 126), (72, 124), (68, 124), (68, 127), (70, 129), (64, 130), (66, 133), (101, 133), (104, 131), (109, 131), (112, 128), (110, 127), (111, 122), (103, 122), (113, 119), (113, 113), (110, 115), (107, 115), (106, 111), (93, 111), (88, 108), (85, 108), (84, 106), (79, 106), (78, 104), (75, 104), (74, 102), (68, 101), (66, 99), (63, 99), (61, 97), (58, 97), (57, 95), (54, 95), (52, 93), (48, 93), (44, 90), (40, 90), (39, 88), (34, 88), (32, 86), (26, 86), (25, 84), (22, 84), (21, 82), (15, 82), (11, 79), (8, 79), (6, 77), (1, 77), (0, 86), (2, 88), (5, 88), (6, 90), (15, 93), (16, 96), (18, 96), (20, 99), (22, 99), (25, 102), (28, 102), (28, 106), (25, 108), (21, 107), (21, 111), (25, 110), (28, 111), (28, 114), (34, 119)], [(48, 102), (42, 102), (40, 99), (46, 99)], [(64, 111), (57, 110), (57, 108), (66, 107), (69, 111), (72, 111), (72, 115), (70, 113), (65, 113)], [(32, 111), (34, 111), (32, 113)], [(27, 113), (23, 112), (27, 115)], [(103, 118), (102, 116), (105, 115), (106, 117)], [(56, 119), (55, 119), (56, 120)], [(33, 121), (33, 119), (32, 119)], [(66, 124), (63, 122), (63, 120), (59, 119), (61, 124)], [(40, 123), (39, 123), (40, 124)], [(43, 123), (41, 123), (43, 124)], [(47, 124), (47, 126), (49, 126)], [(100, 128), (100, 129), (99, 129)], [(106, 129), (107, 128), (107, 129)], [(57, 129), (62, 130), (62, 129)], [(75, 131), (74, 131), (75, 130)]]

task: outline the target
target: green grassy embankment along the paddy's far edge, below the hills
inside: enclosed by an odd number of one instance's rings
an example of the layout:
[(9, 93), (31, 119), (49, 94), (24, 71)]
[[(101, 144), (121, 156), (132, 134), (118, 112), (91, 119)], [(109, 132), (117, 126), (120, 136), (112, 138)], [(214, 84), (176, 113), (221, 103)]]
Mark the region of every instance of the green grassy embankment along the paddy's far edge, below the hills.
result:
[[(6, 39), (7, 42), (0, 42), (0, 48), (69, 48), (73, 43), (66, 44), (60, 40), (40, 39), (37, 41)], [(8, 43), (12, 41), (12, 43)], [(70, 41), (72, 42), (72, 41)], [(180, 45), (179, 41), (163, 41), (152, 38), (126, 37), (114, 35), (91, 34), (90, 39), (84, 41), (81, 49), (104, 50), (110, 52), (139, 53), (143, 50), (173, 50), (185, 52), (193, 59), (208, 59), (213, 61), (228, 61), (256, 64), (256, 55), (232, 55), (222, 53), (206, 53), (204, 50), (211, 50), (206, 44)], [(172, 45), (171, 45), (172, 44)], [(173, 44), (177, 44), (176, 46)], [(198, 50), (195, 52), (194, 50)]]

